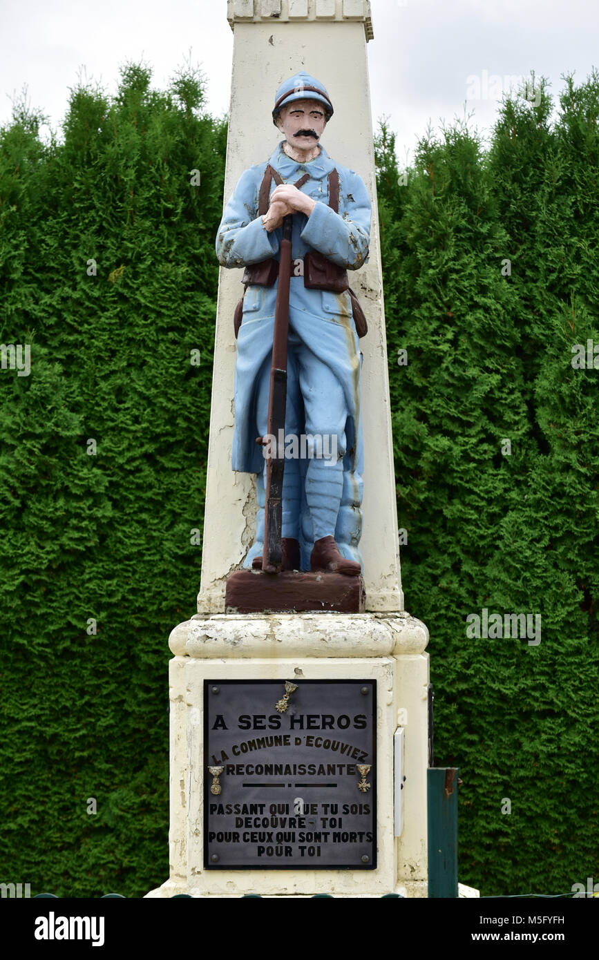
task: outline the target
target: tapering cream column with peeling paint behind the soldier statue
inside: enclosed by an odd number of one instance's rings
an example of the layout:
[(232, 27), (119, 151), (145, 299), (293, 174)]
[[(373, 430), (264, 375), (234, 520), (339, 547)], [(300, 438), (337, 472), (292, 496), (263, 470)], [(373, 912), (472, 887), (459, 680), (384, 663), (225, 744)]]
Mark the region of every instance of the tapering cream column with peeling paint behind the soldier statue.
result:
[[(305, 69), (327, 88), (335, 113), (323, 133), (333, 160), (355, 170), (371, 195), (370, 262), (350, 276), (369, 332), (360, 341), (364, 425), (364, 557), (367, 610), (403, 610), (399, 578), (395, 474), (389, 401), (371, 99), (366, 44), (370, 4), (363, 0), (228, 0), (233, 67), (225, 200), (252, 163), (281, 139), (272, 110), (278, 85)], [(252, 122), (248, 118), (252, 117)], [(198, 611), (225, 612), (225, 586), (252, 541), (254, 482), (231, 470), (235, 338), (233, 311), (242, 270), (221, 270), (206, 479), (202, 581)]]

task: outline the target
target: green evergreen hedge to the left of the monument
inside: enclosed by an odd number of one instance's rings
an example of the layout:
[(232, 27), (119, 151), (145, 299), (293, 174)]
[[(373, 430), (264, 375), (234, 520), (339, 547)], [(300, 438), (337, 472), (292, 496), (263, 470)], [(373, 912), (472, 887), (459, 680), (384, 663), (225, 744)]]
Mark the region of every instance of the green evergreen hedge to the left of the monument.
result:
[(23, 104), (0, 132), (0, 339), (32, 364), (0, 373), (0, 862), (32, 892), (168, 875), (166, 638), (200, 579), (227, 138), (203, 99), (190, 66), (161, 93), (128, 64), (112, 100), (71, 92), (63, 142)]

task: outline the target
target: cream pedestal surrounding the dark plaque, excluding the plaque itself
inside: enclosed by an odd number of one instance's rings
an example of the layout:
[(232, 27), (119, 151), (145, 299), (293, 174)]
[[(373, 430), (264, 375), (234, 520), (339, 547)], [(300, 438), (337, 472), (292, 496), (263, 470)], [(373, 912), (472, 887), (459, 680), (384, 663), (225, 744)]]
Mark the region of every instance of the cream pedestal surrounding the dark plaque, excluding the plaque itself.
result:
[[(426, 897), (427, 640), (408, 613), (196, 615), (176, 627), (171, 876), (149, 896)], [(206, 871), (204, 679), (279, 680), (282, 692), (293, 678), (376, 684), (376, 869)]]

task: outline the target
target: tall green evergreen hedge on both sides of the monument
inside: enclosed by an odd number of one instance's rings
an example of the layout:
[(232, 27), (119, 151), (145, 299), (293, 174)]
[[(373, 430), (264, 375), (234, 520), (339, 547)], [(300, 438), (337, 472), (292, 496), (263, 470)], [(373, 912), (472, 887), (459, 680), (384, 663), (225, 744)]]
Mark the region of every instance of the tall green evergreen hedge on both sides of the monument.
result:
[[(427, 132), (405, 184), (375, 141), (403, 588), (487, 896), (599, 876), (599, 370), (571, 362), (599, 345), (599, 77), (564, 83), (553, 125), (546, 84), (507, 98), (487, 151)], [(227, 126), (191, 65), (166, 92), (131, 63), (112, 98), (79, 84), (60, 142), (43, 119), (0, 130), (0, 343), (32, 363), (0, 372), (0, 873), (141, 896), (168, 876)], [(467, 636), (483, 609), (540, 614), (541, 642)]]

